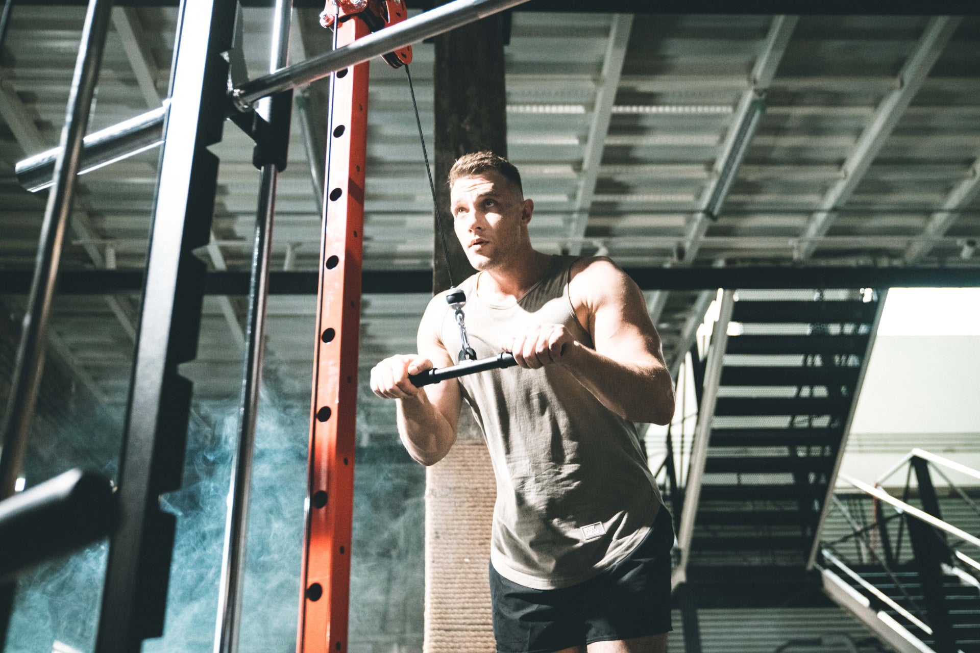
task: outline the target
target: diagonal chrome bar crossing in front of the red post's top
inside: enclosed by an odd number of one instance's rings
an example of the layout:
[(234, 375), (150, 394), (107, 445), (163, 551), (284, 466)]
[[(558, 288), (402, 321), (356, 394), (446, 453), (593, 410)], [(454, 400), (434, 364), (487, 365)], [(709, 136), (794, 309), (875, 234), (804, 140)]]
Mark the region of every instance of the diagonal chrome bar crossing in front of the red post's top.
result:
[(359, 38), (338, 50), (276, 70), (231, 92), (235, 105), (247, 110), (261, 98), (322, 79), (336, 70), (361, 64), (456, 27), (511, 9), (527, 0), (455, 0), (418, 16)]

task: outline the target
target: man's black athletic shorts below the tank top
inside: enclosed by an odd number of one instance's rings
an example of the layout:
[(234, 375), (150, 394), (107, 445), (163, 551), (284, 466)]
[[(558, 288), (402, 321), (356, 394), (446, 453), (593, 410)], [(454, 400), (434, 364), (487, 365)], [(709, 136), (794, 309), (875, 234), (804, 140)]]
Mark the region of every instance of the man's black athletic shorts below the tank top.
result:
[(599, 576), (559, 589), (508, 581), (490, 565), (498, 653), (548, 653), (594, 641), (632, 639), (670, 628), (670, 514), (661, 506), (650, 532)]

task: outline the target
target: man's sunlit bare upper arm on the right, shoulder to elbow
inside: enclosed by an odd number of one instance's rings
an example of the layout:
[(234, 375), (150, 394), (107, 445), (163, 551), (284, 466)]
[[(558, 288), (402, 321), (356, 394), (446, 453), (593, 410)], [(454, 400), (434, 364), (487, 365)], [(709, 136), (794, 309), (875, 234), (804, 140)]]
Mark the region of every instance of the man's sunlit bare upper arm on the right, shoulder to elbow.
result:
[(591, 262), (581, 274), (596, 351), (631, 366), (663, 367), (661, 338), (636, 283), (605, 260)]

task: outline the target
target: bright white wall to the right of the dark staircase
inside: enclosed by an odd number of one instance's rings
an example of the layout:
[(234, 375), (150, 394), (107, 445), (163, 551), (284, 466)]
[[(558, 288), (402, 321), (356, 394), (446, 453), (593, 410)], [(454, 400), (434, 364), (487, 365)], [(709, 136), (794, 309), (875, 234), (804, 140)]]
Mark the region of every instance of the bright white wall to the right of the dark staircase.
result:
[(914, 446), (980, 469), (978, 289), (889, 293), (841, 471), (872, 481)]

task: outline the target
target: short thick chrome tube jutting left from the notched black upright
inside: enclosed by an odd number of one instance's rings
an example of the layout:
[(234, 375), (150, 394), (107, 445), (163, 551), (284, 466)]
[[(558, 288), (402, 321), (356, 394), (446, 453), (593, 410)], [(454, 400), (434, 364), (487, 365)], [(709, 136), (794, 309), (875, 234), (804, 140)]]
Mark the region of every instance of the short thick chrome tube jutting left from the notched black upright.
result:
[[(85, 136), (78, 174), (97, 170), (103, 165), (116, 163), (155, 148), (164, 142), (164, 119), (167, 103), (163, 107), (123, 120)], [(44, 190), (54, 178), (55, 159), (62, 149), (52, 148), (17, 163), (17, 182), (31, 193)]]

